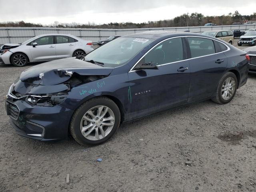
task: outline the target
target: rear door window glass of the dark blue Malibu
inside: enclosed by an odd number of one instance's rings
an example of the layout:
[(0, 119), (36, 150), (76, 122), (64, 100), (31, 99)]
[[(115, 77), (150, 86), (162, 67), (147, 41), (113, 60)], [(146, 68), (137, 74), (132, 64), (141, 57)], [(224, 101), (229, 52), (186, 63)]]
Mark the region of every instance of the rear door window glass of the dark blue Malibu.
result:
[(214, 43), (211, 39), (188, 37), (191, 57), (200, 57), (215, 53)]

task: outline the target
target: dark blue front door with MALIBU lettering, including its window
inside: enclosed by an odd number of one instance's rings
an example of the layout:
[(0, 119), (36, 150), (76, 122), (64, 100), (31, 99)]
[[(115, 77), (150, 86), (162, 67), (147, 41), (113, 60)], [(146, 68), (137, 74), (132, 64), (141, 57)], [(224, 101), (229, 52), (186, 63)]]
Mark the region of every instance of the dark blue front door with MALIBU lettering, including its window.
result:
[[(132, 118), (187, 103), (190, 69), (183, 47), (182, 38), (166, 40), (128, 73)], [(141, 62), (154, 63), (158, 69), (140, 70)]]

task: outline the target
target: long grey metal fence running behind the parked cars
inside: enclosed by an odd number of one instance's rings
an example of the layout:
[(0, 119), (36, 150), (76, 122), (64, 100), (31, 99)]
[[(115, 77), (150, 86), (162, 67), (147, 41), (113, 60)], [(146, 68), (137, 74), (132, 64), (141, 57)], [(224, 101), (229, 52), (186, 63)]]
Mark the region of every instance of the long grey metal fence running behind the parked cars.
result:
[(256, 28), (256, 25), (227, 25), (227, 26), (196, 26), (196, 27), (167, 27), (167, 28), (134, 28), (134, 29), (92, 29), (92, 28), (50, 28), (50, 27), (0, 27), (0, 45), (5, 43), (20, 43), (40, 34), (72, 34), (85, 40), (97, 42), (112, 35), (127, 35), (148, 30), (165, 30), (183, 32), (204, 32), (210, 30), (245, 31)]

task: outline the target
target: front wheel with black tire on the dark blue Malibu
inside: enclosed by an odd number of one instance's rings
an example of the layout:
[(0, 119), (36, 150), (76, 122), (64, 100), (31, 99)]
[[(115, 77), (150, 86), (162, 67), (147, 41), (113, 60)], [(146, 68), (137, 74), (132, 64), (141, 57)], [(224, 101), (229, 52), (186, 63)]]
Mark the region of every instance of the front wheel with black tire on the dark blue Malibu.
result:
[[(106, 115), (100, 119), (98, 111), (101, 106), (104, 106), (100, 113), (101, 116), (106, 112), (106, 108), (108, 108), (108, 110)], [(97, 108), (98, 110), (95, 110)], [(92, 112), (94, 113), (93, 115), (96, 116), (93, 118), (93, 116), (90, 115), (91, 113), (88, 112)], [(97, 118), (98, 120), (96, 120)], [(112, 120), (113, 118), (114, 120)], [(88, 119), (90, 121), (88, 121)], [(70, 123), (70, 134), (74, 140), (81, 145), (98, 145), (106, 142), (106, 140), (113, 136), (120, 126), (120, 120), (120, 110), (111, 99), (106, 97), (92, 98), (82, 104), (74, 112)], [(85, 131), (83, 131), (83, 129)], [(96, 130), (98, 134), (96, 134)]]

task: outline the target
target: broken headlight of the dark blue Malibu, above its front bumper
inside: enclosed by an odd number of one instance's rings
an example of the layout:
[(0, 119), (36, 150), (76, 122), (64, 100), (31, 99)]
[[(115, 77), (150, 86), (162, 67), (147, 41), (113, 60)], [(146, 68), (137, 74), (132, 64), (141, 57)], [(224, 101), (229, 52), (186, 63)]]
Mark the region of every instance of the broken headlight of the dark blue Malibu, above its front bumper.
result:
[(64, 101), (67, 96), (68, 94), (66, 93), (29, 95), (26, 98), (26, 102), (37, 106), (55, 106)]

